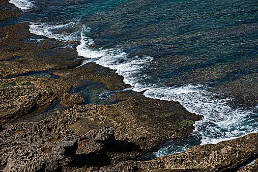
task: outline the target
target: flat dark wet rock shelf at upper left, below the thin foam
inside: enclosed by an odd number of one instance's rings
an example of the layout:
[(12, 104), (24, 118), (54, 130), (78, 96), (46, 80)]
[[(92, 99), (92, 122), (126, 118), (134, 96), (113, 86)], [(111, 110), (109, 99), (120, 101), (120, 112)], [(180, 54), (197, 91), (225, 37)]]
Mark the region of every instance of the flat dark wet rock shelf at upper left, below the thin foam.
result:
[[(0, 35), (5, 35), (0, 39), (0, 47), (3, 47), (0, 50), (0, 78), (34, 71), (75, 68), (82, 62), (76, 60), (77, 52), (72, 48), (55, 49), (65, 43), (47, 39), (37, 42), (37, 38), (29, 32), (28, 23), (1, 28)], [(17, 56), (22, 57), (9, 60)]]

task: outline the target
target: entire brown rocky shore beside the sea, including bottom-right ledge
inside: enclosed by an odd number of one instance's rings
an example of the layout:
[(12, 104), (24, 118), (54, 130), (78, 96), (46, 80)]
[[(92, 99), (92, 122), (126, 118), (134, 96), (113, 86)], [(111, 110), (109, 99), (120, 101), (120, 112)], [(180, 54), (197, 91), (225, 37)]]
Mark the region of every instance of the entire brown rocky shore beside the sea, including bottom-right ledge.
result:
[[(19, 16), (7, 0), (0, 7), (0, 22)], [(85, 83), (106, 91), (129, 85), (97, 64), (78, 67), (77, 52), (60, 48), (67, 42), (36, 40), (28, 23), (0, 28), (1, 172), (257, 172), (258, 160), (241, 167), (258, 158), (258, 133), (139, 161), (168, 140), (187, 138), (202, 116), (130, 90), (106, 105), (87, 104), (86, 96), (70, 91)], [(58, 102), (65, 110), (21, 120)]]

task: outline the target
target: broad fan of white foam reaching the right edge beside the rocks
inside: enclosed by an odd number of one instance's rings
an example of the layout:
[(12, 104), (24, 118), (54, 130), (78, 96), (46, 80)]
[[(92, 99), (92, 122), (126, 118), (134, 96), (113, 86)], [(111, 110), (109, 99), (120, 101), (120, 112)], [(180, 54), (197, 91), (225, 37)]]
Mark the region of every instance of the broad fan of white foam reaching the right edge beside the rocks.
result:
[(228, 99), (216, 98), (203, 86), (151, 88), (144, 92), (149, 98), (178, 101), (187, 111), (203, 115), (194, 126), (201, 135), (201, 144), (218, 143), (258, 132), (258, 115), (252, 111), (232, 109)]

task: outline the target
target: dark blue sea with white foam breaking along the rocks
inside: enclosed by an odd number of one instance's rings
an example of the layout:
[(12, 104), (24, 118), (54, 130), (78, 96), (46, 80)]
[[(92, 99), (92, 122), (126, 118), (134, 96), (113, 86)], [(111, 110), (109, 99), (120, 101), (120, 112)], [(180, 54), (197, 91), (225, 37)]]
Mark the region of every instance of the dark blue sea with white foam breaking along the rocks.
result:
[(146, 97), (203, 115), (190, 138), (165, 143), (153, 156), (258, 132), (257, 104), (239, 103), (245, 98), (235, 89), (244, 83), (253, 86), (246, 94), (258, 93), (257, 0), (10, 2), (24, 14), (1, 27), (29, 21), (42, 38), (79, 41), (75, 51), (85, 63), (116, 70)]

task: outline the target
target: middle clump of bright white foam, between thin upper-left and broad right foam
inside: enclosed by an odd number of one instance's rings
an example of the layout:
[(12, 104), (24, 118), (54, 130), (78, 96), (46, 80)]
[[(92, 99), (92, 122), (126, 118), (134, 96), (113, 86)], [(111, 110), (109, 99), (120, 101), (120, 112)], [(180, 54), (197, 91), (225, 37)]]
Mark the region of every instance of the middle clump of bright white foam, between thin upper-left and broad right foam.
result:
[[(124, 83), (134, 87), (135, 91), (142, 91), (151, 85), (141, 84), (143, 78), (148, 78), (141, 72), (148, 62), (152, 61), (152, 57), (128, 57), (120, 48), (93, 50), (88, 48), (94, 41), (86, 36), (81, 36), (81, 43), (77, 46), (79, 56), (95, 59), (91, 60), (103, 67), (113, 69), (124, 77)], [(85, 63), (87, 63), (86, 60)], [(85, 64), (84, 63), (84, 64)]]

